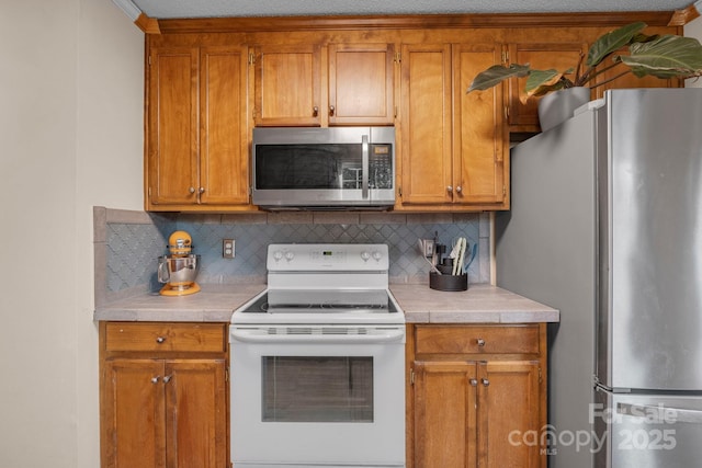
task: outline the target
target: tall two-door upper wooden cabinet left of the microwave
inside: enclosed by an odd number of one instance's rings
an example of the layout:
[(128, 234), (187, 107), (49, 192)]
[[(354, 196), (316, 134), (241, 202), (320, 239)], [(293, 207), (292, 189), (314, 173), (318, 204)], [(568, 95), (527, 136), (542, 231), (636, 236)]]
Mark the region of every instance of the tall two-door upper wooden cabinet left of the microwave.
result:
[(248, 206), (247, 50), (155, 47), (147, 68), (146, 206)]

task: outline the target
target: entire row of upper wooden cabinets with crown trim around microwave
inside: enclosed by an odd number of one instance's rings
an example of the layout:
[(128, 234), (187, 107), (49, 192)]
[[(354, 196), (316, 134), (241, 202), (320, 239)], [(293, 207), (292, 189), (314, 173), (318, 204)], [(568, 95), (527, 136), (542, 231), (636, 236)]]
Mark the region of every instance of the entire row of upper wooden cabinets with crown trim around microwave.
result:
[[(540, 132), (539, 100), (520, 102), (523, 79), (467, 94), (469, 83), (499, 62), (575, 67), (633, 21), (682, 33), (665, 12), (158, 21), (160, 33), (146, 34), (145, 207), (258, 210), (254, 126), (393, 125), (396, 210), (508, 209), (509, 134)], [(592, 98), (676, 85), (629, 75)]]

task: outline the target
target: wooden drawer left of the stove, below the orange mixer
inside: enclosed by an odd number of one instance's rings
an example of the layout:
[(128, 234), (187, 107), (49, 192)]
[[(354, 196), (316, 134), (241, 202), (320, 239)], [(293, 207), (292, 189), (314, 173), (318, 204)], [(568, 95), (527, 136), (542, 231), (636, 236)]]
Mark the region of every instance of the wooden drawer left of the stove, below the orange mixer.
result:
[(226, 352), (226, 323), (124, 323), (105, 326), (106, 351)]

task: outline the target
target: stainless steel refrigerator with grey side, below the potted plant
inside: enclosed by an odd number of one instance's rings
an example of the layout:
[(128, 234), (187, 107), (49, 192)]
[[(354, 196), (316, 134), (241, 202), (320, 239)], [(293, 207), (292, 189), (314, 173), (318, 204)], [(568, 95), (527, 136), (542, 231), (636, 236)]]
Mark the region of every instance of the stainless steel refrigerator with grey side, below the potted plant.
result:
[(548, 330), (552, 468), (702, 460), (702, 89), (608, 91), (512, 148), (497, 283)]

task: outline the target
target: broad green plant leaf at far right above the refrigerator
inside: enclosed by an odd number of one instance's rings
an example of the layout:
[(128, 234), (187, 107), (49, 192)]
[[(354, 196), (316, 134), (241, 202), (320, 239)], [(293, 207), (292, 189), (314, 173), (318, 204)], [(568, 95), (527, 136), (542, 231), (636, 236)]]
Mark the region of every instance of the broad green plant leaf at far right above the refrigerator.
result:
[(637, 77), (699, 77), (702, 75), (702, 45), (693, 37), (665, 35), (632, 44), (630, 55), (618, 57)]

